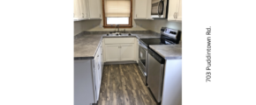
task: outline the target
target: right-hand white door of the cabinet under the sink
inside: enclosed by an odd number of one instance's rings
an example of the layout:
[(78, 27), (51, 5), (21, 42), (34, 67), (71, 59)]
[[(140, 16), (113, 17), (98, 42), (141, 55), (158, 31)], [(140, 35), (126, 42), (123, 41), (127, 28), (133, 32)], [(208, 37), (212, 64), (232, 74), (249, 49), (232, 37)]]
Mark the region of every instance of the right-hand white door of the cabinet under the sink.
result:
[(121, 45), (121, 61), (134, 60), (134, 45), (125, 44)]

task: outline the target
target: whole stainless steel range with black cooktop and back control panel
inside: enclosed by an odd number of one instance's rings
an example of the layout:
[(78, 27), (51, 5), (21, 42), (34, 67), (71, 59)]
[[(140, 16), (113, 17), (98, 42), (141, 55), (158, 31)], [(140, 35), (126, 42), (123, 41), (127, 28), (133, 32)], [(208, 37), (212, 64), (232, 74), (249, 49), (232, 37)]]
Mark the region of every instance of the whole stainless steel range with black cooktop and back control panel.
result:
[(149, 45), (176, 45), (179, 43), (181, 31), (161, 28), (160, 38), (139, 38), (139, 74), (145, 85), (148, 84), (149, 70)]

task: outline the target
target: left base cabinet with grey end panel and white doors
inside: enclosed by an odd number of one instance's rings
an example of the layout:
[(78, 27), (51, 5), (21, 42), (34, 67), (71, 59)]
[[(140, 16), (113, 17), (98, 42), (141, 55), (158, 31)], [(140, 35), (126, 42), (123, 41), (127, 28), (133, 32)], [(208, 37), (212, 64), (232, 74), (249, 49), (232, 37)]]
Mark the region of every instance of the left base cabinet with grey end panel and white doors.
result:
[(74, 60), (74, 105), (90, 105), (99, 100), (104, 64), (102, 47), (101, 44), (94, 59)]

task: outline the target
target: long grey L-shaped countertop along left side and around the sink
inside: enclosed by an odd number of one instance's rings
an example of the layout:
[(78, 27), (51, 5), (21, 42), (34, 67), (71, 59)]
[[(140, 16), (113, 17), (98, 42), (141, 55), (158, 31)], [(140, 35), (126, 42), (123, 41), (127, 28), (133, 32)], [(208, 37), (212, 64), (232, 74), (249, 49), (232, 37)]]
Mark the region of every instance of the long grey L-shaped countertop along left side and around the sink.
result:
[(109, 35), (107, 32), (83, 32), (74, 38), (74, 59), (94, 59), (95, 53), (101, 44), (102, 38), (160, 38), (159, 33), (153, 31), (131, 32), (132, 35)]

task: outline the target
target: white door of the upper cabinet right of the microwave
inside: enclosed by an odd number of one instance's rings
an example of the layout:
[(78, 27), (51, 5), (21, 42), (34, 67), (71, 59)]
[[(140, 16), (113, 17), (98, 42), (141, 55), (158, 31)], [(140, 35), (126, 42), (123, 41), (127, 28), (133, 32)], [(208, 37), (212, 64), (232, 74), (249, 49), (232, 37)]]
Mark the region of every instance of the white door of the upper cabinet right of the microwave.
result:
[(176, 20), (177, 3), (179, 0), (169, 0), (168, 20)]

